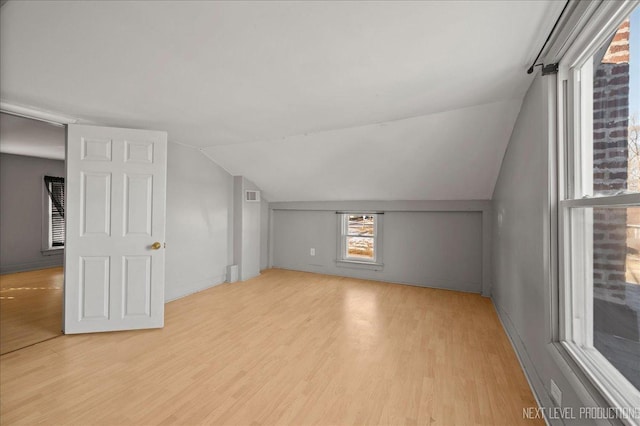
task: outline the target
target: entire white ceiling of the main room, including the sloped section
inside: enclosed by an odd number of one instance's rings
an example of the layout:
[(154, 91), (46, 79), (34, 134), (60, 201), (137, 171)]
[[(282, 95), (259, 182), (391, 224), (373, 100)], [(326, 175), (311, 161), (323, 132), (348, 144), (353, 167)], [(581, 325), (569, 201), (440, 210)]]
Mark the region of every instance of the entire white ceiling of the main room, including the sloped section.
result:
[[(525, 70), (562, 5), (9, 1), (0, 96), (85, 122), (166, 130), (209, 147), (272, 201), (488, 198), (531, 81)], [(384, 132), (374, 125), (387, 122)], [(353, 169), (340, 154), (366, 140), (359, 164), (388, 169), (375, 170), (386, 179), (379, 190), (344, 186)], [(478, 172), (425, 189), (440, 182), (431, 165), (450, 164), (451, 146), (477, 153)], [(416, 157), (424, 167), (403, 168)]]

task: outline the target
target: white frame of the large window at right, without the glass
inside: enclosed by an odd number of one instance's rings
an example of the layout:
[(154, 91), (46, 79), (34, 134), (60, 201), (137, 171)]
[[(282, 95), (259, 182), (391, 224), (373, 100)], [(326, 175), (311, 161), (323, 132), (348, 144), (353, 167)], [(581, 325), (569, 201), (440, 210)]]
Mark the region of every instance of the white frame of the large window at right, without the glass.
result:
[[(640, 407), (640, 391), (593, 347), (593, 266), (585, 262), (593, 254), (593, 235), (587, 208), (640, 206), (640, 194), (592, 197), (590, 191), (581, 190), (585, 186), (593, 189), (593, 170), (580, 165), (593, 158), (593, 114), (584, 114), (584, 111), (593, 111), (590, 59), (639, 4), (637, 0), (628, 0), (600, 5), (559, 61), (557, 78), (559, 312), (557, 340), (554, 340), (612, 407), (625, 409)], [(585, 78), (587, 74), (590, 78)], [(578, 213), (580, 210), (582, 214)], [(575, 216), (580, 215), (579, 225), (584, 229), (576, 237), (572, 226), (576, 226)], [(574, 284), (576, 282), (586, 285)], [(633, 418), (621, 420), (631, 425), (640, 422)]]

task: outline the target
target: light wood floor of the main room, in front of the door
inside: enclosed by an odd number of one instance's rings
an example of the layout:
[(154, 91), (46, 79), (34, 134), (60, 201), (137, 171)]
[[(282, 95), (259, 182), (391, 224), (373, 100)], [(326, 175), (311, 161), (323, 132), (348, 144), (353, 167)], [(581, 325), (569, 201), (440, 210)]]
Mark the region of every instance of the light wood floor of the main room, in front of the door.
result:
[(270, 270), (160, 330), (0, 357), (3, 424), (517, 425), (535, 401), (490, 300)]

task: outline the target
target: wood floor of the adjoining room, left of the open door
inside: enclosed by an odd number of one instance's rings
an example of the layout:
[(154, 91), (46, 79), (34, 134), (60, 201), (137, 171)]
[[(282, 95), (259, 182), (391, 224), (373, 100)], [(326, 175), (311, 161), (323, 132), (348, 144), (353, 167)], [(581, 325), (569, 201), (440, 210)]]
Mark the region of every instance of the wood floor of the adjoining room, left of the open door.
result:
[(62, 268), (0, 275), (0, 354), (62, 334)]

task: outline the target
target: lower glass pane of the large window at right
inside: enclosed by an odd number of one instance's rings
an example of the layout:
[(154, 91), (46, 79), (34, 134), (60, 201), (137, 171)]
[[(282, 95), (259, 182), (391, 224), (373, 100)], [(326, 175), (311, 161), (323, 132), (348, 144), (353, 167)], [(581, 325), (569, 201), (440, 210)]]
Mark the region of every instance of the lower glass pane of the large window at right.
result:
[(640, 207), (577, 210), (593, 220), (593, 345), (640, 389)]

